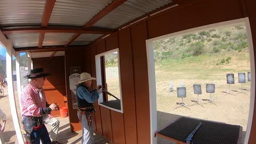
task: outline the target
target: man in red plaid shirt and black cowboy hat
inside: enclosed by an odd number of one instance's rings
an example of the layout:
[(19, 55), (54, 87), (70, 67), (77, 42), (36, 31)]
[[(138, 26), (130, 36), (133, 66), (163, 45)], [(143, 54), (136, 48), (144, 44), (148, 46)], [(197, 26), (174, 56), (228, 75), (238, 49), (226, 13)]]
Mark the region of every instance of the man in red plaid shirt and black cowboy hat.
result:
[(22, 124), (26, 131), (24, 137), (27, 143), (52, 143), (43, 122), (43, 116), (50, 114), (52, 110), (58, 110), (58, 106), (52, 103), (46, 107), (46, 97), (42, 89), (45, 77), (50, 74), (43, 73), (43, 68), (31, 69), (30, 83), (21, 94)]

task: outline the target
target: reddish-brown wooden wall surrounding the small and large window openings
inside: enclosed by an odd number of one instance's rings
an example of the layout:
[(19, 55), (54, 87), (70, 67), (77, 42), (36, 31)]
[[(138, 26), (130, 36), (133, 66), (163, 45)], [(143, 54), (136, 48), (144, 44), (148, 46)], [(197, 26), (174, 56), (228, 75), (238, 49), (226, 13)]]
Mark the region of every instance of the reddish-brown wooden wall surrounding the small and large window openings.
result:
[[(69, 55), (66, 55), (66, 71), (68, 71), (68, 67), (79, 66), (80, 63), (80, 66), (91, 71), (91, 75), (95, 77), (95, 55), (119, 47), (124, 113), (103, 108), (98, 105), (98, 102), (95, 103), (97, 111), (94, 113), (95, 130), (114, 143), (150, 143), (146, 39), (249, 16), (253, 43), (256, 47), (255, 1), (183, 0), (174, 2), (177, 2), (179, 6), (119, 30), (90, 45), (84, 53), (73, 50), (69, 51), (71, 54), (66, 52)], [(71, 57), (72, 53), (77, 57)], [(90, 65), (81, 63), (84, 58), (86, 61), (90, 61)], [(93, 87), (96, 87), (95, 82), (93, 82)], [(256, 111), (255, 107), (254, 111)], [(76, 119), (75, 115), (74, 117)], [(256, 119), (256, 112), (254, 112), (253, 118)], [(71, 124), (74, 127), (77, 126), (73, 121)], [(256, 143), (256, 137), (253, 137), (255, 134), (256, 121), (254, 120), (250, 143)]]

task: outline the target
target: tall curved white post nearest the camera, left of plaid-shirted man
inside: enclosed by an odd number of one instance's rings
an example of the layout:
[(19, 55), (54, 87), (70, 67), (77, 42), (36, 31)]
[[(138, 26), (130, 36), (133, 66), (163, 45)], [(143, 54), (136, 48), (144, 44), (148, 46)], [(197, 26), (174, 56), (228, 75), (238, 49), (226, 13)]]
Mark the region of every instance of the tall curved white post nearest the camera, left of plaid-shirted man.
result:
[(12, 114), (12, 121), (15, 128), (15, 132), (19, 143), (24, 143), (23, 137), (20, 131), (20, 123), (17, 114), (17, 107), (15, 103), (14, 90), (13, 90), (13, 79), (12, 79), (12, 40), (7, 39), (6, 47), (6, 76), (7, 76), (7, 88), (9, 94), (9, 103)]

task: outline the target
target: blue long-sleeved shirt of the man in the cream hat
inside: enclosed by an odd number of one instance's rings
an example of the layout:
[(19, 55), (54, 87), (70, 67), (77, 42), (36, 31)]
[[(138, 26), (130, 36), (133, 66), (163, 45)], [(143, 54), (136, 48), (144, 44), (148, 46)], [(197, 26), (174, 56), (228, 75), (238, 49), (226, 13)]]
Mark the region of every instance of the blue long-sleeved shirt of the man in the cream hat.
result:
[(79, 97), (80, 99), (84, 99), (89, 103), (94, 103), (100, 97), (99, 92), (97, 89), (94, 89), (92, 91), (89, 91), (88, 89), (89, 89), (89, 87), (87, 87), (87, 86), (79, 86), (76, 90), (77, 97)]

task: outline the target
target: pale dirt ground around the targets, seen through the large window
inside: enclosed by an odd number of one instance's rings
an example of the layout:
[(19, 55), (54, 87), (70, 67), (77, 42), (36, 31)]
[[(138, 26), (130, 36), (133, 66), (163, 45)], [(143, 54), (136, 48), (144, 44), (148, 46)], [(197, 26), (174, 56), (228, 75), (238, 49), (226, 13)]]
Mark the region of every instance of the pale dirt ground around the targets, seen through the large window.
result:
[[(163, 129), (180, 116), (187, 116), (199, 119), (205, 119), (209, 121), (222, 122), (232, 125), (240, 125), (243, 127), (243, 140), (247, 128), (247, 119), (249, 114), (250, 105), (250, 82), (241, 85), (238, 83), (238, 74), (235, 73), (235, 84), (229, 85), (226, 82), (225, 73), (213, 73), (211, 78), (204, 80), (196, 77), (195, 73), (191, 72), (179, 72), (175, 74), (174, 71), (170, 71), (165, 75), (161, 75), (162, 70), (156, 71), (156, 93), (157, 93), (157, 126), (158, 130)], [(174, 78), (173, 76), (180, 75), (181, 78)], [(247, 76), (247, 73), (246, 73)], [(215, 77), (219, 77), (215, 79)], [(170, 92), (170, 81), (174, 86), (174, 91)], [(214, 80), (215, 79), (215, 80)], [(187, 90), (187, 97), (183, 98), (183, 102), (188, 106), (179, 107), (181, 98), (177, 98), (177, 87), (180, 87), (181, 83), (184, 84)], [(207, 103), (207, 99), (210, 98), (210, 93), (206, 93), (206, 84), (215, 84), (215, 93), (212, 93), (213, 103)], [(202, 94), (199, 94), (199, 101), (203, 104), (195, 105), (194, 100), (197, 99), (197, 94), (194, 94), (193, 85), (201, 84)], [(176, 109), (175, 109), (176, 108)], [(159, 144), (172, 143), (163, 138), (158, 137)]]

